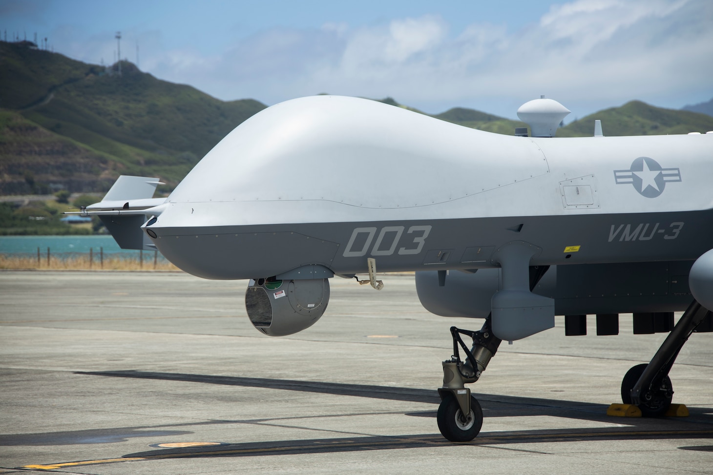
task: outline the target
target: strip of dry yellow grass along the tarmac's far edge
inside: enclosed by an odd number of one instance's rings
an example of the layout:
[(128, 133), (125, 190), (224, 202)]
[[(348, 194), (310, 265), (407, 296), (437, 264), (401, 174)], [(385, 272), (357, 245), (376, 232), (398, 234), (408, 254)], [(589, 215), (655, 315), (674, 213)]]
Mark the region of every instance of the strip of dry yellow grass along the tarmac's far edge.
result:
[(165, 259), (154, 262), (153, 252), (143, 256), (140, 262), (138, 256), (127, 258), (124, 256), (104, 255), (103, 262), (100, 255), (93, 255), (90, 262), (89, 255), (53, 256), (47, 261), (47, 255), (18, 256), (0, 254), (0, 269), (41, 269), (41, 270), (179, 270), (178, 267)]

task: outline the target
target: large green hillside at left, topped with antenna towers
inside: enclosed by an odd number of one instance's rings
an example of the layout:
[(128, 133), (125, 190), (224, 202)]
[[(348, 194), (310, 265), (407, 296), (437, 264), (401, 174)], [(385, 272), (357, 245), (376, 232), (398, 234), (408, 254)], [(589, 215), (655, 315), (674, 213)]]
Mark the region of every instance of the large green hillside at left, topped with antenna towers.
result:
[[(266, 107), (252, 99), (219, 101), (126, 61), (121, 75), (117, 68), (0, 41), (1, 194), (46, 191), (42, 184), (104, 191), (121, 173), (160, 176), (173, 188), (213, 145)], [(65, 175), (73, 160), (91, 173)]]

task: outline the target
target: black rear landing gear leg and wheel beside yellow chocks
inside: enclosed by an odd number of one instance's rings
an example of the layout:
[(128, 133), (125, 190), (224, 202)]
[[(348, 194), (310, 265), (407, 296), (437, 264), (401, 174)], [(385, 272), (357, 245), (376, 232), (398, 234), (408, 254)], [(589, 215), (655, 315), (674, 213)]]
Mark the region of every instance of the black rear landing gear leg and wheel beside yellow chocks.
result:
[(711, 312), (695, 300), (668, 334), (649, 364), (637, 364), (622, 380), (622, 402), (634, 404), (644, 417), (662, 417), (673, 399), (668, 374), (691, 333)]

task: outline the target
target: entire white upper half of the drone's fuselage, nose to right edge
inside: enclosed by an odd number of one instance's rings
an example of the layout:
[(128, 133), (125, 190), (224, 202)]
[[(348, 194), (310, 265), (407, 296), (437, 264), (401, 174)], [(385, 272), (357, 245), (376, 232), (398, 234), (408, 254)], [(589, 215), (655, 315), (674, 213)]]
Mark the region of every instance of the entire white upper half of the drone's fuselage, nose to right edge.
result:
[[(168, 198), (157, 226), (428, 220), (712, 207), (713, 136), (522, 138), (366, 99), (279, 103), (235, 128)], [(648, 156), (683, 181), (645, 198), (614, 170)], [(563, 207), (594, 175), (600, 206)], [(692, 193), (692, 190), (697, 190)]]

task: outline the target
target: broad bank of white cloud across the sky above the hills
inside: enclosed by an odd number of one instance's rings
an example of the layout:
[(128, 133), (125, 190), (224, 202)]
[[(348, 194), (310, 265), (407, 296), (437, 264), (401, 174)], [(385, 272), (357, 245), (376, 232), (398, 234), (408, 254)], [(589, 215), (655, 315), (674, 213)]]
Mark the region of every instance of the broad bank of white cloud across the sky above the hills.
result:
[(271, 104), (329, 92), (394, 96), (430, 112), (459, 105), (513, 117), (519, 103), (543, 93), (574, 117), (581, 115), (578, 104), (639, 98), (682, 106), (695, 102), (692, 94), (713, 96), (709, 0), (575, 0), (519, 31), (492, 24), (450, 31), (436, 15), (274, 28), (217, 45), (210, 56), (165, 50), (160, 37), (147, 38), (143, 70), (225, 100)]

